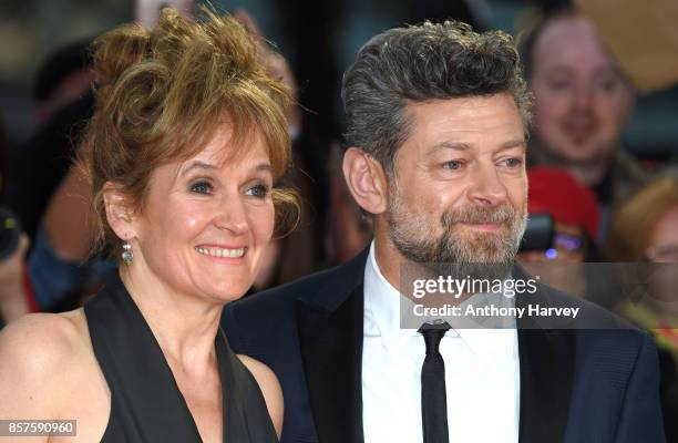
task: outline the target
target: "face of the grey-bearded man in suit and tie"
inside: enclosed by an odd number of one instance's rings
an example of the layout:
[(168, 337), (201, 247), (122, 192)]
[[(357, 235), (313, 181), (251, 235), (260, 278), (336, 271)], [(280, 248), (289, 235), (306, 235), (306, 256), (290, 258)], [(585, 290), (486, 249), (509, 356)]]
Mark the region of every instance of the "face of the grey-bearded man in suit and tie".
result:
[(512, 262), (525, 229), (524, 125), (507, 94), (409, 104), (389, 235), (418, 262)]

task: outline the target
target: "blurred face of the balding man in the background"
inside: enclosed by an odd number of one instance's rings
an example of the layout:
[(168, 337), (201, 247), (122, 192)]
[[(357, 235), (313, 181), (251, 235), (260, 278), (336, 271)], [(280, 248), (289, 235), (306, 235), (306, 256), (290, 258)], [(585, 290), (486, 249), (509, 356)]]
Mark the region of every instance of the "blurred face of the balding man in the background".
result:
[(571, 164), (608, 157), (634, 93), (593, 24), (583, 17), (551, 22), (532, 58), (530, 83), (542, 147)]

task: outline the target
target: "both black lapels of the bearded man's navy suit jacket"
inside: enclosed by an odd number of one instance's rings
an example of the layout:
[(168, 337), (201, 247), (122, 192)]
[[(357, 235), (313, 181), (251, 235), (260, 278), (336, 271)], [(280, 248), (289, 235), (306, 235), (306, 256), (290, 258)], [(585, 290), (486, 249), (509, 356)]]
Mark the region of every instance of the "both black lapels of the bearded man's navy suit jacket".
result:
[[(362, 276), (367, 250), (316, 298), (297, 300), (297, 327), (317, 434), (323, 443), (362, 443)], [(524, 271), (521, 274), (525, 275)], [(547, 289), (516, 298), (549, 306)], [(518, 319), (520, 443), (564, 441), (572, 395), (575, 330)]]

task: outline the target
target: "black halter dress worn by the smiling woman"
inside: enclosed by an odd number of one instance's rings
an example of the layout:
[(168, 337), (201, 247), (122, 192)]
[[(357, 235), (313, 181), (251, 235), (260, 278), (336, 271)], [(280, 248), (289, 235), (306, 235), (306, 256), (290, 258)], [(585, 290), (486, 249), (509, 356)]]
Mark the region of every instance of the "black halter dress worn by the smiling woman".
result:
[[(94, 354), (111, 390), (102, 442), (201, 442), (151, 328), (119, 276), (84, 306)], [(215, 349), (222, 379), (224, 442), (276, 443), (259, 385), (219, 329)]]

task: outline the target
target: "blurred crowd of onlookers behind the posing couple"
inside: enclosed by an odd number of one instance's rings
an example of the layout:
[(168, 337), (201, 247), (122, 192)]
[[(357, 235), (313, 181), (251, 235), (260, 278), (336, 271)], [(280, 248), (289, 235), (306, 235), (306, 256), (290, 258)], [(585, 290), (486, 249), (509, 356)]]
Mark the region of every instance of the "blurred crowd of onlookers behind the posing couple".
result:
[[(165, 4), (188, 16), (203, 1), (2, 0), (0, 328), (30, 311), (76, 308), (116, 270), (106, 251), (92, 255), (91, 196), (71, 167), (94, 106), (88, 48), (117, 24), (153, 25)], [(542, 282), (653, 332), (667, 441), (678, 442), (678, 1), (210, 4), (271, 42), (282, 58), (259, 47), (264, 63), (298, 104), (289, 115), (295, 167), (280, 184), (299, 192), (301, 219), (271, 241), (250, 292), (345, 262), (371, 239), (370, 219), (346, 187), (340, 148), (341, 75), (363, 43), (427, 19), (514, 35), (536, 99), (518, 261)], [(625, 272), (584, 266), (599, 261), (657, 266), (668, 278), (650, 286), (667, 290), (628, 302), (615, 286)]]

